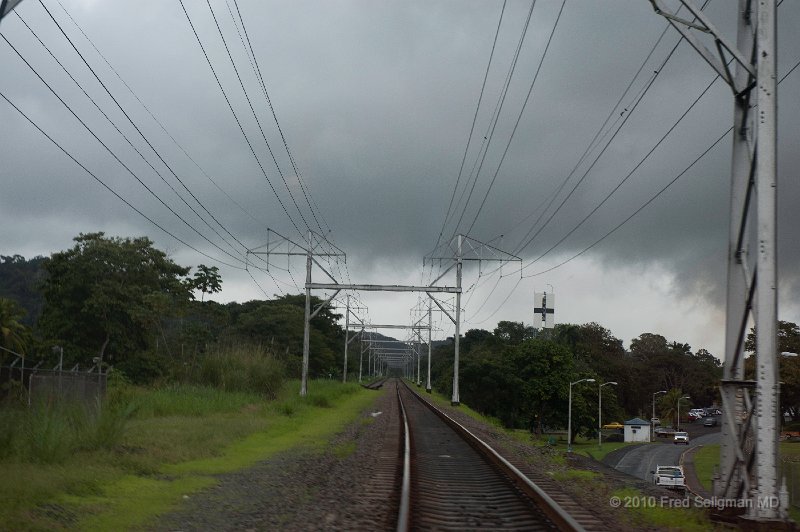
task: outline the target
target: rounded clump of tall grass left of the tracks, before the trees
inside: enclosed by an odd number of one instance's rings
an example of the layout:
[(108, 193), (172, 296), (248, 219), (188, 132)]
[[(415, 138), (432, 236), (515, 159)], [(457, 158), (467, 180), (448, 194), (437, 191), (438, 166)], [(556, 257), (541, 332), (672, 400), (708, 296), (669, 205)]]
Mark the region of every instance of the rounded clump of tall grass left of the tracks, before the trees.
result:
[(283, 384), (283, 364), (262, 346), (218, 347), (200, 361), (197, 380), (225, 391), (274, 399)]

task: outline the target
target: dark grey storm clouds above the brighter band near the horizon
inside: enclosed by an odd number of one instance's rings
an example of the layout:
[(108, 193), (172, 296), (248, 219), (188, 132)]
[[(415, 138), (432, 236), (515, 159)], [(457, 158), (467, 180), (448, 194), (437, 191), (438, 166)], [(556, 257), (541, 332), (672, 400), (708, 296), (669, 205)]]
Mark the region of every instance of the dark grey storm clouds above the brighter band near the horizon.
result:
[[(249, 247), (265, 242), (267, 226), (299, 239), (284, 208), (301, 230), (304, 224), (264, 147), (208, 7), (203, 2), (185, 4), (283, 206), (275, 199), (244, 142), (180, 3), (75, 0), (65, 5), (138, 96), (236, 203), (226, 198), (138, 107), (127, 89), (78, 38), (58, 4), (46, 2), (70, 35), (75, 36), (112, 93), (131, 110), (148, 139), (227, 229)], [(212, 5), (239, 73), (252, 91), (264, 134), (284, 178), (313, 226), (313, 216), (283, 151), (271, 112), (259, 96), (228, 5)], [(467, 175), (478, 156), (480, 141), (487, 135), (489, 116), (500, 96), (529, 5), (521, 1), (508, 3), (462, 187), (468, 183)], [(413, 272), (418, 272), (422, 257), (436, 242), (456, 183), (501, 6), (499, 1), (239, 1), (303, 184), (315, 205), (319, 205), (320, 218), (324, 218), (320, 223), (326, 229), (329, 225), (337, 245), (347, 251), (348, 267), (354, 277), (405, 277), (413, 282), (419, 275)], [(475, 218), (487, 193), (559, 6), (552, 0), (536, 4), (501, 120), (469, 207), (464, 211), (461, 230)], [(26, 0), (17, 11), (86, 84), (98, 103), (110, 109), (109, 115), (152, 164), (184, 193), (75, 57), (41, 5)], [(708, 12), (734, 39), (735, 14), (729, 3), (712, 2)], [(793, 31), (800, 25), (800, 9), (795, 3), (785, 2), (780, 16), (779, 72), (783, 73), (800, 60), (800, 40)], [(531, 99), (472, 236), (488, 241), (504, 235), (503, 246), (514, 249), (526, 234), (532, 234), (529, 229), (536, 215), (531, 214), (576, 164), (665, 26), (647, 2), (566, 3)], [(16, 16), (4, 19), (0, 31), (159, 197), (184, 216), (189, 225), (218, 241), (118, 138), (40, 50)], [(677, 33), (670, 29), (623, 107), (632, 108), (635, 95), (677, 40)], [(5, 43), (0, 45), (4, 65), (0, 90), (4, 94), (145, 214), (199, 249), (225, 257), (135, 182)], [(523, 257), (538, 257), (570, 231), (634, 168), (712, 77), (711, 69), (682, 44), (574, 196), (521, 252)], [(794, 149), (800, 102), (791, 97), (798, 90), (800, 73), (796, 72), (780, 88), (778, 214), (784, 228), (779, 236), (781, 273), (787, 291), (784, 297), (796, 297), (800, 292), (794, 268), (800, 261), (800, 246), (792, 229), (798, 225), (793, 205), (800, 201), (800, 187), (793, 177), (800, 163)], [(717, 82), (608, 203), (526, 273), (549, 268), (578, 253), (624, 220), (730, 127), (731, 117), (730, 91)], [(623, 118), (615, 114), (612, 122)], [(69, 246), (71, 237), (80, 231), (103, 229), (112, 234), (150, 234), (186, 264), (209, 262), (121, 204), (5, 102), (0, 105), (0, 119), (4, 124), (0, 211), (6, 223), (13, 220), (14, 226), (20, 228), (4, 232), (0, 238), (3, 253), (49, 254)], [(729, 146), (729, 139), (724, 140), (647, 210), (593, 248), (589, 257), (597, 269), (586, 275), (602, 277), (604, 270), (635, 267), (646, 271), (652, 267), (680, 280), (674, 291), (702, 294), (712, 304), (721, 303), (727, 248)], [(597, 151), (592, 152), (589, 161), (596, 154)], [(587, 167), (588, 163), (584, 163), (579, 168), (565, 191), (572, 188)], [(463, 208), (463, 203), (458, 203), (462, 190), (459, 188), (456, 194), (456, 219)], [(453, 231), (454, 224), (448, 224), (445, 237)], [(224, 244), (221, 246), (227, 249)], [(231, 270), (229, 274), (231, 279), (250, 283), (241, 273)], [(295, 278), (302, 279), (302, 274)], [(285, 274), (281, 280), (292, 285)], [(271, 283), (266, 277), (263, 282)], [(543, 284), (545, 280), (537, 282)], [(253, 289), (252, 283), (248, 286)], [(270, 287), (268, 291), (275, 289)], [(244, 292), (237, 292), (234, 297), (241, 293)], [(259, 295), (255, 293), (253, 297)]]

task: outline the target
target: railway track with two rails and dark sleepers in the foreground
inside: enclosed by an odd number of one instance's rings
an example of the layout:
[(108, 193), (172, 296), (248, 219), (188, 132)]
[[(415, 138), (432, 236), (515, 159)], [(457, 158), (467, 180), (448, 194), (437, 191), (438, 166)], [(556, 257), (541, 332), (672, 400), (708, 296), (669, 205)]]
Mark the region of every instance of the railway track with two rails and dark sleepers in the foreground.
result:
[(407, 386), (398, 384), (397, 395), (410, 442), (398, 530), (585, 529), (487, 444)]

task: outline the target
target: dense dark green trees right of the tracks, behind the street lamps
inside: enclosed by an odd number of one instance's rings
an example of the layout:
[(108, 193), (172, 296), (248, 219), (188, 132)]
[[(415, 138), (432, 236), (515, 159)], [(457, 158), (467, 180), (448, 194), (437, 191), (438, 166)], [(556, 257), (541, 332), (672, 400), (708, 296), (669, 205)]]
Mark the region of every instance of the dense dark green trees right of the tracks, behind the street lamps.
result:
[[(674, 390), (677, 397), (691, 395), (697, 405), (718, 402), (719, 360), (657, 334), (633, 339), (628, 352), (620, 339), (596, 323), (535, 331), (522, 323), (500, 322), (493, 332), (467, 331), (461, 345), (461, 401), (508, 427), (566, 428), (570, 383), (581, 379), (594, 382), (572, 388), (576, 433), (596, 431), (598, 387), (609, 382), (617, 384), (603, 386), (604, 423), (634, 416), (649, 419), (652, 394), (663, 389)], [(435, 360), (435, 383), (451, 393), (453, 346), (439, 347)], [(674, 407), (668, 401), (662, 397), (656, 403), (657, 414), (669, 414)], [(684, 400), (684, 413), (688, 405)]]

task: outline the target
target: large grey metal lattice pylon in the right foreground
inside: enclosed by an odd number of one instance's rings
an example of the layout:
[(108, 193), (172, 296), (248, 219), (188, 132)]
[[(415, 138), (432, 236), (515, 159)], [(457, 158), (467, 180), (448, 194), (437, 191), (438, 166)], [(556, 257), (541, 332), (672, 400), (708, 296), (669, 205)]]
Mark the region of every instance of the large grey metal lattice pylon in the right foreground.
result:
[[(780, 385), (777, 363), (777, 83), (775, 0), (739, 0), (736, 44), (690, 0), (694, 21), (650, 0), (731, 87), (734, 96), (727, 318), (722, 378), (720, 474), (714, 495), (746, 501), (748, 521), (788, 518), (778, 478)], [(705, 46), (708, 40), (714, 52)], [(729, 64), (735, 62), (735, 71)], [(744, 340), (756, 327), (756, 379), (745, 380)], [(753, 393), (755, 392), (755, 393)]]

